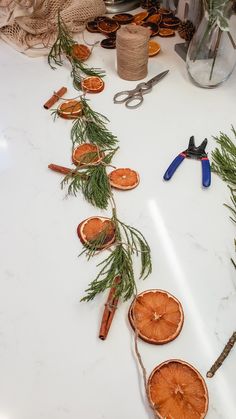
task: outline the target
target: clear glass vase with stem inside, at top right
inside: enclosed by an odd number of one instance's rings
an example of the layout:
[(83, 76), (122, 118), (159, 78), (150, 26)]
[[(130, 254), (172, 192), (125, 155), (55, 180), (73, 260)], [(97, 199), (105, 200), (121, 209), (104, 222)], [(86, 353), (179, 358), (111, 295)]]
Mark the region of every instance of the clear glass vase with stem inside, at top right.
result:
[(225, 28), (207, 11), (189, 45), (186, 65), (194, 84), (213, 88), (229, 78), (236, 64), (236, 15), (230, 2), (224, 11)]

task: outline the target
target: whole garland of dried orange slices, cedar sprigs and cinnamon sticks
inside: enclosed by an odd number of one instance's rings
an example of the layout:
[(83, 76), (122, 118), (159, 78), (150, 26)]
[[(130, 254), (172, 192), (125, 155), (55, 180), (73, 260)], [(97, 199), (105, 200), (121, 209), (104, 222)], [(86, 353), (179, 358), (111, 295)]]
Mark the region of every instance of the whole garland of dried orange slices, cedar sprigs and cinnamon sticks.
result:
[[(62, 29), (65, 33), (66, 28), (63, 24)], [(57, 53), (61, 50), (58, 46), (53, 51)], [(69, 53), (71, 54), (71, 50)], [(73, 62), (70, 57), (68, 59)], [(75, 87), (83, 88), (84, 80), (80, 77), (77, 83), (73, 65), (72, 77)], [(97, 92), (102, 88), (101, 85), (98, 86)], [(84, 91), (90, 89), (90, 86), (87, 89), (85, 86), (83, 88)], [(93, 90), (92, 92), (94, 93)], [(106, 338), (119, 297), (127, 300), (135, 296), (129, 310), (129, 321), (135, 332), (135, 351), (155, 418), (203, 419), (208, 409), (208, 392), (199, 372), (184, 361), (168, 360), (157, 366), (147, 380), (138, 350), (138, 337), (152, 344), (164, 344), (174, 340), (181, 332), (184, 320), (180, 302), (166, 291), (149, 290), (137, 295), (133, 256), (140, 258), (140, 278), (145, 279), (152, 270), (150, 247), (139, 230), (118, 218), (112, 188), (132, 189), (139, 184), (139, 175), (134, 170), (114, 169), (111, 165), (118, 149), (117, 138), (108, 130), (107, 118), (90, 107), (85, 95), (82, 95), (80, 100), (67, 100), (53, 113), (55, 117), (74, 120), (71, 129), (74, 167), (70, 169), (51, 164), (49, 168), (65, 175), (61, 185), (68, 186), (69, 194), (77, 195), (78, 192), (82, 192), (84, 198), (93, 206), (101, 209), (111, 207), (110, 218), (90, 217), (83, 220), (77, 228), (84, 247), (81, 254), (85, 253), (90, 259), (103, 250), (110, 252), (99, 263), (100, 272), (89, 284), (87, 294), (82, 298), (83, 301), (89, 301), (98, 293), (110, 288), (99, 336), (101, 339)], [(108, 174), (109, 167), (114, 170)]]

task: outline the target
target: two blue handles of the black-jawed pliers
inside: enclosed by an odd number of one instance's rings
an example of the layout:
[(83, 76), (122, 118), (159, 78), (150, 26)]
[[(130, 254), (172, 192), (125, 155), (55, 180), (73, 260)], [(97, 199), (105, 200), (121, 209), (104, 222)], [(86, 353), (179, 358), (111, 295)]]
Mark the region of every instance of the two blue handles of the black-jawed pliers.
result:
[[(175, 173), (176, 169), (179, 167), (179, 165), (182, 163), (182, 161), (186, 158), (186, 154), (180, 153), (177, 157), (172, 161), (168, 169), (166, 170), (164, 174), (165, 180), (170, 180)], [(211, 166), (208, 157), (202, 157), (199, 160), (201, 160), (202, 163), (202, 185), (205, 188), (208, 188), (211, 184)]]

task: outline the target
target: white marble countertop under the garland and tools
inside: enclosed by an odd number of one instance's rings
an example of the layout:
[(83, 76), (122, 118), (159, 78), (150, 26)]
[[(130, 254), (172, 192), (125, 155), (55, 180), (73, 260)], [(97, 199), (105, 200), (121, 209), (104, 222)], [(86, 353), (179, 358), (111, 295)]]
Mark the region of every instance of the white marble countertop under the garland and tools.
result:
[[(148, 78), (170, 73), (133, 111), (112, 98), (137, 83), (117, 76), (115, 50), (96, 47), (88, 63), (107, 77), (91, 104), (119, 138), (114, 163), (140, 173), (138, 188), (115, 192), (120, 218), (138, 227), (152, 249), (153, 273), (138, 290), (168, 290), (185, 312), (175, 341), (139, 343), (148, 374), (179, 358), (205, 376), (236, 328), (235, 229), (223, 206), (229, 192), (214, 174), (203, 190), (197, 161), (185, 161), (170, 182), (162, 178), (191, 135), (196, 144), (208, 138), (210, 156), (212, 135), (230, 133), (236, 72), (217, 89), (194, 86), (174, 52), (177, 41), (158, 38), (162, 51), (149, 60)], [(127, 320), (130, 302), (120, 305), (104, 342), (98, 329), (106, 295), (80, 303), (97, 270), (95, 260), (78, 258), (76, 227), (102, 211), (81, 196), (66, 199), (60, 175), (47, 168), (71, 162), (71, 122), (53, 122), (42, 107), (61, 86), (75, 96), (69, 70), (52, 71), (46, 58), (28, 58), (1, 41), (0, 74), (0, 419), (151, 418)], [(235, 360), (236, 349), (206, 379), (209, 419), (236, 417)]]

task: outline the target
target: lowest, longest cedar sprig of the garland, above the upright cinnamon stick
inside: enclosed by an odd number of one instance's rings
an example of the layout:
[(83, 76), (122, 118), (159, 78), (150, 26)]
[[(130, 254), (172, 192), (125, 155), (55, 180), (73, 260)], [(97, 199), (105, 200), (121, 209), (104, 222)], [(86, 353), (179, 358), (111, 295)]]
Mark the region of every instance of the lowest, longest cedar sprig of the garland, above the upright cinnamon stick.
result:
[[(131, 227), (116, 216), (113, 210), (111, 221), (115, 224), (115, 243), (112, 245), (108, 257), (98, 264), (101, 267), (96, 278), (86, 289), (86, 295), (81, 301), (93, 300), (97, 294), (114, 286), (114, 278), (119, 275), (121, 281), (115, 285), (116, 296), (128, 300), (136, 291), (135, 276), (133, 270), (133, 257), (140, 257), (140, 279), (145, 279), (152, 271), (150, 247), (142, 233)], [(88, 258), (94, 254), (94, 248), (87, 247)], [(92, 252), (92, 253), (91, 253)]]

